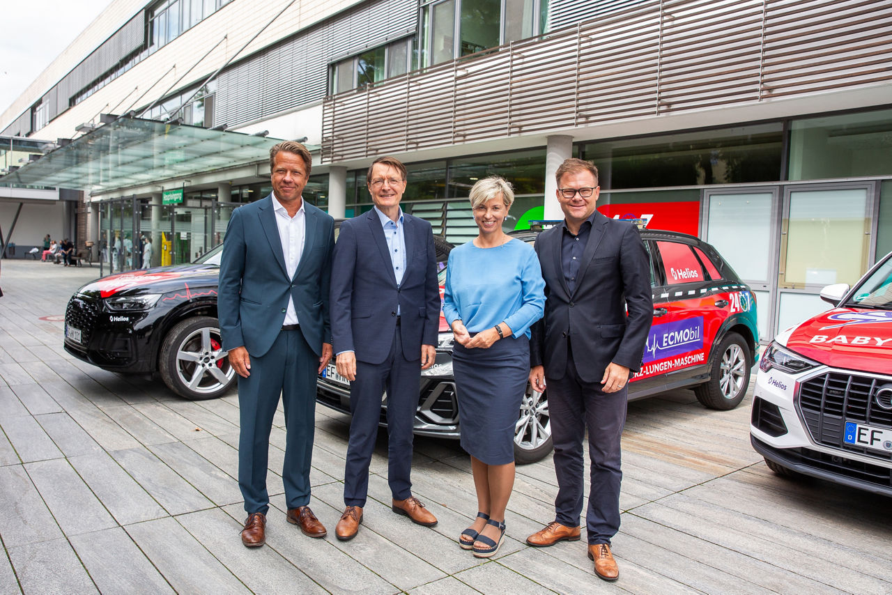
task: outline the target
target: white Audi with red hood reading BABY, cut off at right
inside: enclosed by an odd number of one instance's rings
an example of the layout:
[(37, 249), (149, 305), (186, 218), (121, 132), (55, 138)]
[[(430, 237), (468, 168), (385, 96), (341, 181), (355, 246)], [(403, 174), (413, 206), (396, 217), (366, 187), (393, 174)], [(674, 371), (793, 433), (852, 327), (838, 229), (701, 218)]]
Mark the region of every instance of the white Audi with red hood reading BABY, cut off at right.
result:
[(835, 307), (764, 352), (750, 441), (777, 474), (892, 496), (892, 252), (821, 297)]

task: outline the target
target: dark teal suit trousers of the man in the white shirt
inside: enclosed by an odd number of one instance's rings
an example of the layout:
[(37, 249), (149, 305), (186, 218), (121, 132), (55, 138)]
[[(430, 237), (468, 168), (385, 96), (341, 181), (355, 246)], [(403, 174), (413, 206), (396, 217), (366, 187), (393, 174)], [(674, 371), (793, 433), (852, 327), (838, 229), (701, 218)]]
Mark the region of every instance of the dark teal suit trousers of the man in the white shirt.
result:
[(248, 514), (269, 508), (269, 432), (279, 394), (285, 409), (285, 501), (288, 508), (310, 503), (318, 365), (300, 330), (281, 331), (266, 354), (251, 357), (251, 376), (238, 378), (238, 487)]

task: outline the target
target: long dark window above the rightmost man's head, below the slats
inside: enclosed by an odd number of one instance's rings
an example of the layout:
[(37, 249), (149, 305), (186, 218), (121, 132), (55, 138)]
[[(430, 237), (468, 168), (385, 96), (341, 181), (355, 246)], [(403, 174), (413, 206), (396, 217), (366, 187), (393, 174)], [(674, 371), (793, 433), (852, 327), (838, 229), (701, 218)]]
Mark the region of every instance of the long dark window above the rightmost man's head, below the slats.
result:
[(780, 123), (648, 136), (583, 146), (601, 188), (702, 186), (780, 179)]

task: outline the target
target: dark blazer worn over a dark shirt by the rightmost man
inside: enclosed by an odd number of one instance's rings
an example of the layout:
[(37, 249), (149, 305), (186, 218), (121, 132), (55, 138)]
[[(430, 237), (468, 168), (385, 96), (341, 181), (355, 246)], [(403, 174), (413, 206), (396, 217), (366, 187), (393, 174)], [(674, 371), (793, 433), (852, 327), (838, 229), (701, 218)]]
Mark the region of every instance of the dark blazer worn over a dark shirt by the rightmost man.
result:
[(569, 337), (583, 381), (600, 382), (611, 361), (637, 372), (654, 316), (638, 227), (596, 211), (573, 293), (561, 267), (563, 233), (558, 225), (536, 238), (547, 300), (545, 317), (533, 326), (531, 364), (545, 366), (547, 378), (563, 378)]

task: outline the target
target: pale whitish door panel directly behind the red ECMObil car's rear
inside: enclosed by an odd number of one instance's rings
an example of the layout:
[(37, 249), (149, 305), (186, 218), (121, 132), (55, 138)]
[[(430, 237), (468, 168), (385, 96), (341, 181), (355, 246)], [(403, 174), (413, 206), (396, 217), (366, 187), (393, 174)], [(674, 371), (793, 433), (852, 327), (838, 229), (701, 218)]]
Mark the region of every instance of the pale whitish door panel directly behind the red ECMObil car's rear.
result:
[(759, 339), (764, 343), (774, 336), (779, 200), (778, 188), (771, 186), (706, 191), (706, 241), (731, 263), (756, 295)]

